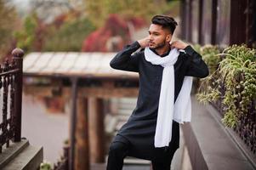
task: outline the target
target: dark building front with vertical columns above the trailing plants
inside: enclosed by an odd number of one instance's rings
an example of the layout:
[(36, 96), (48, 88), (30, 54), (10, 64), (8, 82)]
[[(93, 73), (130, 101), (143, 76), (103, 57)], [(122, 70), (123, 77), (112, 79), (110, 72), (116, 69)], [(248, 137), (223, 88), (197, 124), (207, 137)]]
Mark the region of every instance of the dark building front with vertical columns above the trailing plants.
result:
[(181, 37), (199, 44), (256, 47), (254, 0), (182, 0)]

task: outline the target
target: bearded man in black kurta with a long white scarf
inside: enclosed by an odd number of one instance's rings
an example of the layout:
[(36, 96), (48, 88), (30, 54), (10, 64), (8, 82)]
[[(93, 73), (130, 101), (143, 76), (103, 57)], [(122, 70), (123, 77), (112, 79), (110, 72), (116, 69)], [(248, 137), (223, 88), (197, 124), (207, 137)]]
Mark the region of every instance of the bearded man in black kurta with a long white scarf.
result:
[[(170, 169), (179, 123), (191, 119), (191, 77), (208, 76), (200, 54), (185, 42), (171, 42), (176, 26), (172, 17), (154, 16), (149, 36), (111, 60), (114, 69), (139, 72), (139, 97), (111, 143), (107, 170), (121, 170), (126, 156), (150, 160), (154, 170)], [(134, 53), (139, 48), (145, 50)]]

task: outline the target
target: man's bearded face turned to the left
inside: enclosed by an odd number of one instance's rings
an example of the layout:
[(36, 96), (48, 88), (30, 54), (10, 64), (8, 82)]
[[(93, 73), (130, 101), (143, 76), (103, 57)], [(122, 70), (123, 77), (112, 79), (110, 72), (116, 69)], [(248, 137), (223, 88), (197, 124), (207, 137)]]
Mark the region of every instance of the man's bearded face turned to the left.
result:
[(149, 29), (149, 48), (163, 48), (171, 41), (172, 35), (167, 29), (162, 29), (162, 26), (151, 24)]

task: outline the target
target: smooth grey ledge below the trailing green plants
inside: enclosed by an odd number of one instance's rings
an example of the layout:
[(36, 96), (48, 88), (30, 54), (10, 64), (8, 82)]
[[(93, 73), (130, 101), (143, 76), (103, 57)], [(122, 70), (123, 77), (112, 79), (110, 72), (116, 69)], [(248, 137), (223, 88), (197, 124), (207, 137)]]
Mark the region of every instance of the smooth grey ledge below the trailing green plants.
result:
[(185, 145), (196, 170), (253, 170), (253, 165), (225, 127), (192, 97), (192, 121), (182, 126)]

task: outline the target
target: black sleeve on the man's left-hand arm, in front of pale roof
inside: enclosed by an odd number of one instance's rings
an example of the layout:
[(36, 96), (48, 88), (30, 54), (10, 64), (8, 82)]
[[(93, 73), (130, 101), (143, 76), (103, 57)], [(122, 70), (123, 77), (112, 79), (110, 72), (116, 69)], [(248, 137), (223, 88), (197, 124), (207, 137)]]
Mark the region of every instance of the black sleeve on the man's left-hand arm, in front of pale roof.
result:
[(139, 53), (133, 54), (140, 48), (139, 42), (134, 42), (118, 52), (117, 55), (111, 59), (111, 67), (113, 69), (122, 71), (139, 72)]

